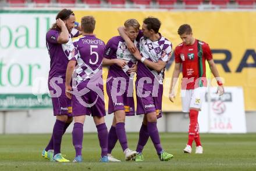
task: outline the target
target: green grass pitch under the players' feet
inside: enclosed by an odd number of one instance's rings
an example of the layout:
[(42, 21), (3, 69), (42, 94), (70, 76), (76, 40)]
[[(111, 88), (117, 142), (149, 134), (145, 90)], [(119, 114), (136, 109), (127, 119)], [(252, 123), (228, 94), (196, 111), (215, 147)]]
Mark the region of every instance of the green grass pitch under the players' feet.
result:
[[(149, 139), (144, 162), (126, 162), (120, 144), (112, 154), (122, 162), (99, 163), (97, 134), (84, 134), (83, 163), (49, 162), (41, 157), (50, 134), (0, 135), (0, 170), (256, 170), (256, 134), (201, 134), (204, 154), (183, 154), (186, 133), (161, 133), (163, 148), (175, 157), (161, 162)], [(138, 133), (127, 134), (129, 147), (135, 150)], [(194, 144), (193, 144), (194, 145)], [(73, 160), (71, 134), (65, 134), (62, 154)]]

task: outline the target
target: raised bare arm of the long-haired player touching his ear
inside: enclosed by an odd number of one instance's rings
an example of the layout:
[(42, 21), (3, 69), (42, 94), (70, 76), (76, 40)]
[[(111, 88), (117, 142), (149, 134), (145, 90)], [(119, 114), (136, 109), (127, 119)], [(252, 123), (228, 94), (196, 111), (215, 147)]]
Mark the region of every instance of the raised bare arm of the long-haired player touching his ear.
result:
[(67, 30), (67, 27), (61, 19), (56, 20), (57, 27), (61, 28), (61, 34), (59, 34), (59, 37), (57, 39), (57, 42), (60, 44), (67, 43), (69, 41), (69, 31)]

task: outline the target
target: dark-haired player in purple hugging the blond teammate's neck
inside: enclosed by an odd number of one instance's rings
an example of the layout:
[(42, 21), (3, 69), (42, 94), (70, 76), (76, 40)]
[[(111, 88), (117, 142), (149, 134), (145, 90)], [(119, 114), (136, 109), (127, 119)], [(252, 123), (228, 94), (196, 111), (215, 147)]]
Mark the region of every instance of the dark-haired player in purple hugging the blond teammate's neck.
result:
[[(157, 129), (157, 118), (160, 118), (162, 113), (164, 71), (172, 52), (172, 43), (158, 32), (160, 26), (161, 22), (157, 18), (144, 19), (142, 26), (144, 37), (140, 37), (140, 51), (136, 50), (133, 53), (138, 60), (137, 115), (144, 114), (135, 161), (144, 161), (142, 151), (149, 137), (161, 161), (173, 158), (172, 154), (162, 149)], [(130, 42), (122, 28), (119, 28), (119, 32), (126, 42)]]

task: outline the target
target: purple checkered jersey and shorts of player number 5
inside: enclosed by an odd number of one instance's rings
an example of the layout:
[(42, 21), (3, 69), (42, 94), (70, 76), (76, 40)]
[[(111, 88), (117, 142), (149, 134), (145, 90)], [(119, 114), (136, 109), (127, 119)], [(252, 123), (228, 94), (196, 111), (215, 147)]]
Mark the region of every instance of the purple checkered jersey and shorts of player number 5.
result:
[(74, 71), (76, 85), (73, 84), (72, 114), (104, 117), (102, 60), (105, 43), (94, 35), (86, 35), (74, 41), (73, 45), (76, 49), (71, 60), (76, 60), (77, 66)]

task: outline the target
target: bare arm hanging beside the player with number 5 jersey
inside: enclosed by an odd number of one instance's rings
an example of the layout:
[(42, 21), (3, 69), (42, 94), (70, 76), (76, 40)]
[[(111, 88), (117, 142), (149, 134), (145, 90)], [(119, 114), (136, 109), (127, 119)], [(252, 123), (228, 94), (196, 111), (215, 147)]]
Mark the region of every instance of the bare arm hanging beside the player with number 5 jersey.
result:
[(70, 60), (69, 64), (67, 64), (67, 71), (66, 71), (66, 83), (65, 83), (65, 94), (67, 98), (71, 99), (71, 93), (72, 87), (70, 86), (71, 80), (72, 80), (72, 74), (74, 71), (74, 67), (76, 67), (76, 61)]

